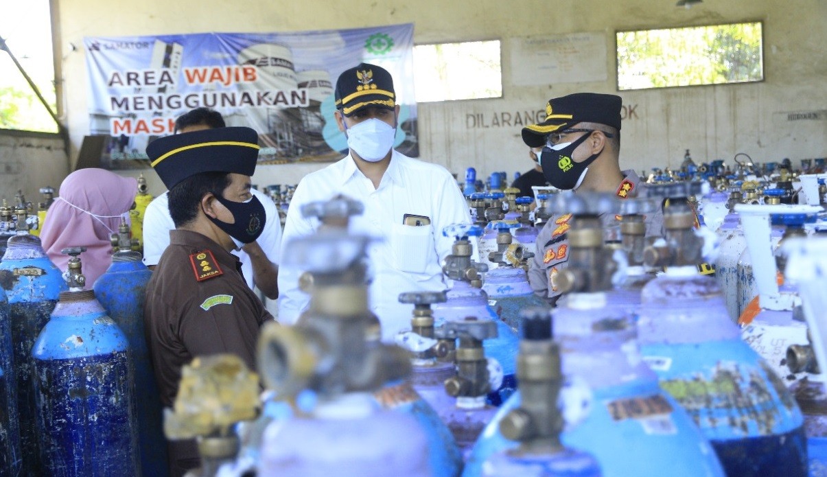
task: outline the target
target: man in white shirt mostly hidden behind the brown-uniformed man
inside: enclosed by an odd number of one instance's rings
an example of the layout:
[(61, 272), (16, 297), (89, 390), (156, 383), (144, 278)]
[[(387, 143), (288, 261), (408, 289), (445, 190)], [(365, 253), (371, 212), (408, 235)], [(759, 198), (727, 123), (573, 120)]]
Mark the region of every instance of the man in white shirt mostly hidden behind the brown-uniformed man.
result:
[[(198, 107), (175, 120), (175, 132), (192, 132), (226, 126), (220, 112)], [(281, 246), (281, 221), (279, 212), (264, 193), (251, 189), (265, 208), (265, 227), (256, 241), (246, 244), (232, 254), (241, 261), (241, 274), (250, 288), (258, 287), (265, 297), (279, 297), (278, 263)], [(152, 200), (144, 213), (144, 265), (155, 268), (170, 245), (170, 230), (175, 224), (170, 217), (167, 193)]]

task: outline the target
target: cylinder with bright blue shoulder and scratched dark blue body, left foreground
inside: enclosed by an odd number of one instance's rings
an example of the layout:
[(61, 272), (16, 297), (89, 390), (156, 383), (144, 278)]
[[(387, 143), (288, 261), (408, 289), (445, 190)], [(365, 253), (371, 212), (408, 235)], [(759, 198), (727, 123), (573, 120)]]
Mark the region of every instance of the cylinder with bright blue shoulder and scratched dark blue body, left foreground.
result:
[(76, 255), (69, 291), (31, 350), (37, 433), (45, 475), (140, 475), (127, 336), (92, 290)]

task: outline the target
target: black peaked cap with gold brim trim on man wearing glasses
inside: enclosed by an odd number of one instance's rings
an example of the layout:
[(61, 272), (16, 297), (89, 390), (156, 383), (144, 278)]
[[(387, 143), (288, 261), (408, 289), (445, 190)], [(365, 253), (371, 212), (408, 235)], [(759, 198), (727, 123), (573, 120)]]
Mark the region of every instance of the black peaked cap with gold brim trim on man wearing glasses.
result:
[(529, 147), (546, 144), (546, 136), (578, 122), (597, 122), (620, 131), (622, 101), (614, 94), (574, 93), (552, 98), (546, 104), (546, 120), (523, 127), (523, 142)]

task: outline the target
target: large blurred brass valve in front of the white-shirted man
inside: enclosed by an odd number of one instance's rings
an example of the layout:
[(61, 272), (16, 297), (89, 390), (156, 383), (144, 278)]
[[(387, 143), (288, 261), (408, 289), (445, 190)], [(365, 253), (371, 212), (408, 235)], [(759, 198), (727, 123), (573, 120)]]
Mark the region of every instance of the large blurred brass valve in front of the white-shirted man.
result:
[(320, 232), (289, 243), (285, 265), (313, 274), (310, 307), (294, 327), (270, 322), (261, 328), (262, 379), (280, 395), (312, 389), (323, 397), (371, 392), (411, 372), (407, 351), (378, 340), (367, 308), (367, 285), (352, 274), (361, 266), (370, 237)]

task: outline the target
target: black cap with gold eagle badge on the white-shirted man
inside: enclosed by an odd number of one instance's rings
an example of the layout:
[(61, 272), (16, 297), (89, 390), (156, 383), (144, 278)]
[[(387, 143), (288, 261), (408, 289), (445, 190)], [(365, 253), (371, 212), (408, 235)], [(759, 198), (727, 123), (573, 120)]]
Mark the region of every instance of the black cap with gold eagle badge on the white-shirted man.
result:
[(339, 75), (334, 98), (336, 108), (347, 117), (363, 107), (394, 109), (394, 79), (381, 66), (361, 63)]

